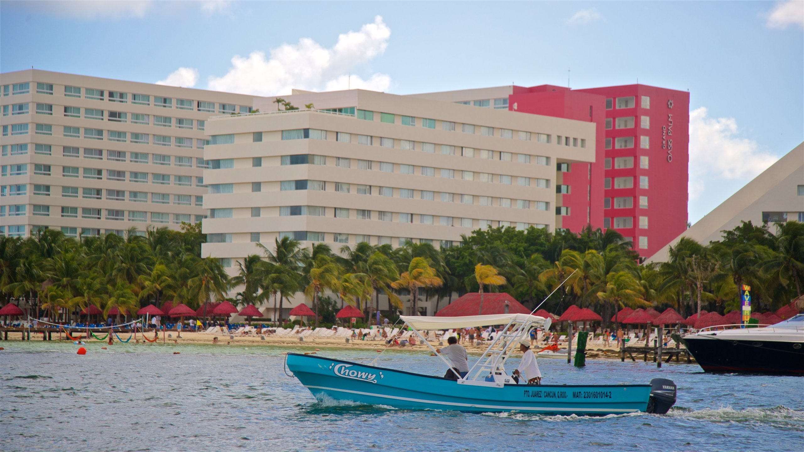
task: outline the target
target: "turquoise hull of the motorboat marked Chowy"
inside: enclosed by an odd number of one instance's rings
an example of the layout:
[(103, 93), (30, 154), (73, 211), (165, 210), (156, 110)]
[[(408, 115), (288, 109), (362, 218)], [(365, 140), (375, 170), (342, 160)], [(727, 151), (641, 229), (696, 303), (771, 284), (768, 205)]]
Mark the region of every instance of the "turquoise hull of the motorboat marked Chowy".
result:
[(319, 401), (399, 409), (603, 416), (646, 411), (651, 391), (650, 384), (461, 384), (437, 376), (295, 353), (287, 355), (286, 364)]

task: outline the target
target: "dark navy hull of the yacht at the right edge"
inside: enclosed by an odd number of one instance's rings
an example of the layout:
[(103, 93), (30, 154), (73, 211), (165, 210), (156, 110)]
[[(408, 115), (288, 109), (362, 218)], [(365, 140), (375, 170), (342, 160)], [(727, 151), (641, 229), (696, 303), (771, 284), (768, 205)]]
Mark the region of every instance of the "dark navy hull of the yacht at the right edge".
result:
[(798, 342), (692, 335), (683, 343), (704, 372), (804, 376), (804, 347)]

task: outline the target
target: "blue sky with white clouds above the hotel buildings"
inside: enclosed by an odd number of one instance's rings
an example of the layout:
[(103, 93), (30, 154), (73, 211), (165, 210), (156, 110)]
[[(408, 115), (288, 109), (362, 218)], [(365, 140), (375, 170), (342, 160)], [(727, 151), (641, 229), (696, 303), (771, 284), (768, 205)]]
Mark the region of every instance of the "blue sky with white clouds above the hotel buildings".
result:
[[(259, 96), (689, 90), (692, 223), (804, 141), (804, 2), (0, 2), (0, 72)], [(349, 80), (349, 81), (347, 81)]]

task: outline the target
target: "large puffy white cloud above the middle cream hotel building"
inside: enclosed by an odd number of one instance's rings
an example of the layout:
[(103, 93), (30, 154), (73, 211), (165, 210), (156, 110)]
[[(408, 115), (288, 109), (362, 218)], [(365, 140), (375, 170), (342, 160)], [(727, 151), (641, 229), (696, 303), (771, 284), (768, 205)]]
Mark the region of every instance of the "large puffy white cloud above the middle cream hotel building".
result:
[[(391, 29), (376, 16), (360, 31), (338, 35), (338, 42), (324, 48), (313, 39), (284, 43), (270, 50), (252, 51), (248, 57), (232, 57), (232, 68), (220, 77), (211, 76), (207, 88), (256, 96), (289, 94), (292, 88), (315, 91), (338, 87), (345, 89), (347, 76), (369, 60), (382, 55), (388, 47)], [(368, 80), (351, 77), (352, 88), (387, 90), (391, 78), (374, 74)]]

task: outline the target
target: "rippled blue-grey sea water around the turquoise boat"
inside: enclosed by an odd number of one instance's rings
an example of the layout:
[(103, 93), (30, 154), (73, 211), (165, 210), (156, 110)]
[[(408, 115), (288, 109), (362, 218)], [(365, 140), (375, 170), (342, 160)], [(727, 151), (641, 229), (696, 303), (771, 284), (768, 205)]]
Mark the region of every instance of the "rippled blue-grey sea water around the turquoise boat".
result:
[[(679, 387), (667, 416), (539, 416), (318, 403), (282, 371), (312, 347), (0, 342), (0, 450), (804, 450), (804, 378), (541, 359), (545, 383)], [(181, 354), (174, 355), (174, 351)], [(375, 351), (318, 355), (373, 360)], [(443, 375), (426, 351), (378, 365)]]

